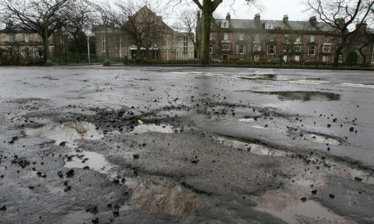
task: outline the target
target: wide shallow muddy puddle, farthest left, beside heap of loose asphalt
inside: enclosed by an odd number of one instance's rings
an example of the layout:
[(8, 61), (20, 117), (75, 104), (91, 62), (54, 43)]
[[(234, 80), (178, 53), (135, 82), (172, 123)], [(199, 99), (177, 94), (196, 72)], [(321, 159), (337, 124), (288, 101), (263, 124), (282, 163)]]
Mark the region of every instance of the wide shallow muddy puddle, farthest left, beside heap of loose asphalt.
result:
[(67, 122), (45, 125), (36, 129), (24, 129), (26, 135), (55, 140), (55, 144), (74, 139), (96, 140), (103, 137), (95, 125), (88, 122)]

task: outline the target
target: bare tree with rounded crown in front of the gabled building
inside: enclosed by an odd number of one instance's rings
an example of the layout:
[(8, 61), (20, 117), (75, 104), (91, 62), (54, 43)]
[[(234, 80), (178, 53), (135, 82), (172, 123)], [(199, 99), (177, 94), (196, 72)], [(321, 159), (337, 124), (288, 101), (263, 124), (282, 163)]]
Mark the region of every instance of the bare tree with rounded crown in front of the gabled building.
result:
[(163, 33), (172, 32), (147, 2), (117, 1), (115, 7), (108, 6), (109, 19), (137, 46), (137, 58), (141, 56), (141, 47), (160, 43)]

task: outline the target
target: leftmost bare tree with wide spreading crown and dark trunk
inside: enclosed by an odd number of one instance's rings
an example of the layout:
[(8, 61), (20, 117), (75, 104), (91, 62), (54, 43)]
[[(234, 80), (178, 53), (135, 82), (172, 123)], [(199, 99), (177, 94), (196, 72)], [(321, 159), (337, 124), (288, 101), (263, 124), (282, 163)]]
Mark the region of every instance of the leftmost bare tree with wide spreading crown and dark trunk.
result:
[(3, 19), (13, 19), (32, 30), (43, 40), (44, 62), (49, 59), (48, 37), (57, 29), (72, 22), (66, 14), (71, 0), (1, 0)]

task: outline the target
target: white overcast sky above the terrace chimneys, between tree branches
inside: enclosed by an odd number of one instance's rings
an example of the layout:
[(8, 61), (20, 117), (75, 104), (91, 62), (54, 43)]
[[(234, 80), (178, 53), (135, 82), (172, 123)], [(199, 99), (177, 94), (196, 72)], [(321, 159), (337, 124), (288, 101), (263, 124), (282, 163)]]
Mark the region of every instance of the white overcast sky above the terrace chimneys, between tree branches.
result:
[(249, 8), (243, 4), (244, 0), (236, 0), (233, 11), (229, 6), (225, 6), (229, 0), (223, 0), (218, 6), (217, 12), (223, 17), (230, 11), (231, 18), (253, 19), (254, 15), (260, 13), (261, 19), (282, 20), (283, 15), (288, 14), (289, 20), (308, 20), (309, 14), (303, 12), (305, 5), (302, 2), (306, 0), (261, 0), (265, 7), (262, 12), (257, 8)]

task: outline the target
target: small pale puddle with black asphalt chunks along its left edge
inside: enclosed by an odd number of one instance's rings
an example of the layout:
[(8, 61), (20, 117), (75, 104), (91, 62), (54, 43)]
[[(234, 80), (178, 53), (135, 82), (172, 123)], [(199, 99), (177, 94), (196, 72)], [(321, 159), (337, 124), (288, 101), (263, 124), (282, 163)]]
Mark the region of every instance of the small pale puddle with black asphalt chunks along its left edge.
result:
[(85, 166), (88, 166), (91, 170), (95, 170), (102, 174), (108, 174), (113, 168), (112, 165), (105, 161), (103, 155), (95, 152), (72, 152), (68, 158), (69, 159), (67, 159), (64, 166), (66, 168), (84, 168)]

